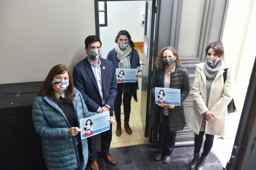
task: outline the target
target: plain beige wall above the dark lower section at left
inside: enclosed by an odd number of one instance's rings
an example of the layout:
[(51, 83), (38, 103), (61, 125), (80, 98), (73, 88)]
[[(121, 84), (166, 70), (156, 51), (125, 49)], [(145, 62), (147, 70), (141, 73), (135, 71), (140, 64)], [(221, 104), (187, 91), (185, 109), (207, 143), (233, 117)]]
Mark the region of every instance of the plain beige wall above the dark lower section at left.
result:
[(93, 0), (1, 0), (0, 84), (42, 81), (57, 64), (72, 72), (94, 34)]

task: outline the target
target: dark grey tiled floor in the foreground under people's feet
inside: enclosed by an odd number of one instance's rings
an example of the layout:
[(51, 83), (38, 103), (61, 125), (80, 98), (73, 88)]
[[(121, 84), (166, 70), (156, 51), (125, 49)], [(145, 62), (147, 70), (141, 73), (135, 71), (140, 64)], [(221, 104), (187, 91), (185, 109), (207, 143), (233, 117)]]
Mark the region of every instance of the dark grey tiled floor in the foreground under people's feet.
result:
[[(203, 149), (203, 147), (202, 147)], [(174, 148), (171, 161), (167, 164), (156, 161), (157, 149), (151, 144), (141, 144), (110, 149), (110, 154), (116, 159), (112, 165), (99, 154), (97, 158), (99, 170), (188, 170), (193, 158), (194, 146)], [(201, 151), (202, 152), (202, 151)], [(222, 170), (221, 161), (210, 152), (206, 159), (205, 170)], [(89, 165), (86, 166), (89, 170)]]

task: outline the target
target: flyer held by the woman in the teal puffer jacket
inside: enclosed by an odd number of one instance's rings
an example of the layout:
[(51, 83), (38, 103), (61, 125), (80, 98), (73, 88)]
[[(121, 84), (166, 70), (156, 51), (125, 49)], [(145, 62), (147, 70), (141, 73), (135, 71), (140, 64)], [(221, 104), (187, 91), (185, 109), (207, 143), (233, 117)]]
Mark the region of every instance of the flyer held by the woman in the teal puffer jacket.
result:
[(109, 130), (109, 111), (80, 119), (81, 139)]

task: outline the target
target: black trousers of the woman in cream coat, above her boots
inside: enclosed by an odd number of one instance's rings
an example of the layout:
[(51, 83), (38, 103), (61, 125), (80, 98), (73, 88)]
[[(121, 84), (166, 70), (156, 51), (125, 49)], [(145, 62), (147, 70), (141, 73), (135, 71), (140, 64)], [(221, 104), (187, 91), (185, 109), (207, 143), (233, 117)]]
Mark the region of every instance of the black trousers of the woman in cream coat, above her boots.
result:
[[(199, 131), (199, 135), (196, 134), (195, 136), (195, 153), (200, 152), (203, 143), (204, 133), (204, 131)], [(214, 135), (205, 134), (205, 138), (206, 139), (204, 141), (204, 151), (202, 154), (204, 157), (206, 157), (211, 151)]]

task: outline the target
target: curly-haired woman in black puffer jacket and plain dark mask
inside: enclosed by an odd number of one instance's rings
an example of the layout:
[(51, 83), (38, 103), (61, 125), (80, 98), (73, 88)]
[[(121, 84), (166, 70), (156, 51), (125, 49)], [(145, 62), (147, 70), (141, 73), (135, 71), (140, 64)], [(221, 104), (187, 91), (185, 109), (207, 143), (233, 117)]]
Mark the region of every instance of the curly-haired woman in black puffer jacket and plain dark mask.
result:
[[(155, 159), (163, 156), (163, 162), (170, 162), (170, 157), (175, 145), (177, 131), (184, 129), (186, 125), (184, 100), (189, 94), (189, 75), (174, 47), (165, 47), (157, 55), (156, 69), (151, 82), (151, 92), (155, 96), (155, 87), (180, 89), (181, 105), (154, 104), (150, 115), (151, 127), (155, 120), (159, 120), (158, 152)], [(167, 140), (167, 141), (166, 141)]]

